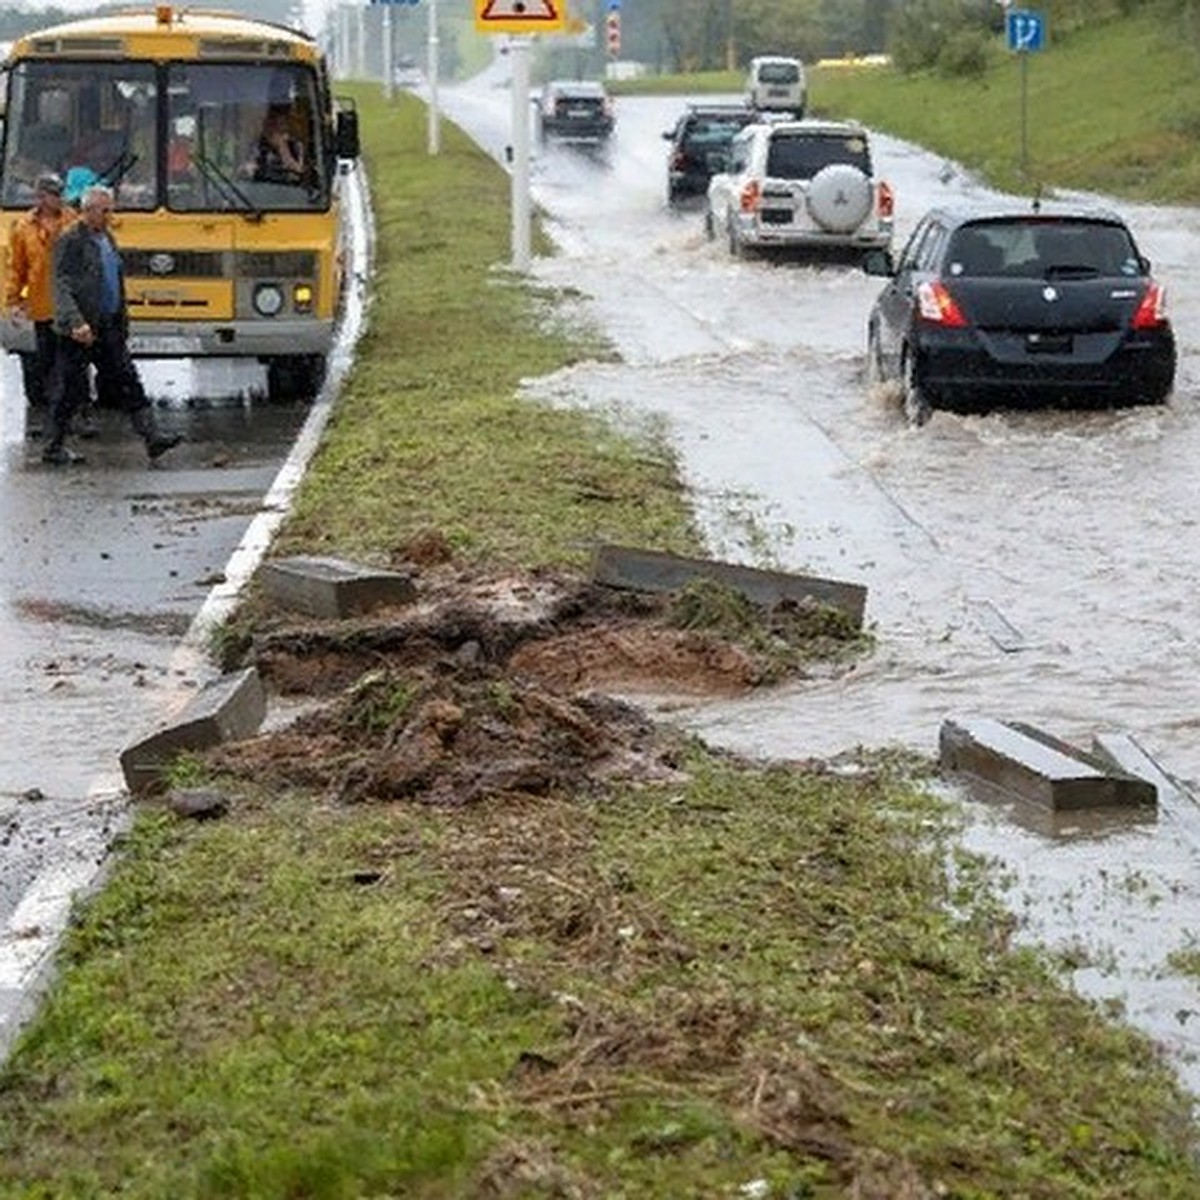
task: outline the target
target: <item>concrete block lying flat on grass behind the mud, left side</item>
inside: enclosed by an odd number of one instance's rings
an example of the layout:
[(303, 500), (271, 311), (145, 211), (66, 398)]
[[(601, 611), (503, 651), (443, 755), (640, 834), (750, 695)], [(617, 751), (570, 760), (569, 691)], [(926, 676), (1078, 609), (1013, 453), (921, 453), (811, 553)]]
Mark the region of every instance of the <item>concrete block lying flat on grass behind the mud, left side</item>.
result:
[(416, 599), (410, 575), (341, 558), (276, 558), (263, 563), (259, 577), (272, 604), (310, 617), (359, 617)]

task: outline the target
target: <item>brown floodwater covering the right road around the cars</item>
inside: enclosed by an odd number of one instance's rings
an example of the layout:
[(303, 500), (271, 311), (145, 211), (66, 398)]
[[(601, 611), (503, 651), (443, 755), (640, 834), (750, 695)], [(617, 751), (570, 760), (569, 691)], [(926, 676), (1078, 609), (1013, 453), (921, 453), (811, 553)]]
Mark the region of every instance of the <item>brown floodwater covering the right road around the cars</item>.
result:
[[(451, 89), (445, 104), (503, 157), (503, 80)], [(1200, 780), (1200, 210), (1110, 205), (1168, 288), (1180, 341), (1169, 406), (936, 413), (910, 428), (898, 397), (865, 382), (877, 280), (734, 260), (706, 238), (701, 209), (667, 209), (661, 134), (683, 106), (622, 97), (607, 160), (551, 146), (535, 161), (560, 252), (534, 272), (582, 292), (580, 318), (623, 361), (529, 391), (662, 428), (709, 552), (865, 584), (877, 648), (841, 677), (671, 719), (745, 754), (802, 758), (860, 745), (936, 755), (947, 716), (982, 714), (1084, 746), (1127, 732), (1168, 773)], [(898, 247), (932, 204), (986, 194), (954, 164), (872, 142), (896, 192)], [(1200, 988), (1171, 960), (1200, 936), (1190, 798), (1150, 823), (1099, 827), (958, 798), (967, 845), (1009, 870), (1026, 936), (1069, 950), (1079, 986), (1123, 1004), (1200, 1093)]]

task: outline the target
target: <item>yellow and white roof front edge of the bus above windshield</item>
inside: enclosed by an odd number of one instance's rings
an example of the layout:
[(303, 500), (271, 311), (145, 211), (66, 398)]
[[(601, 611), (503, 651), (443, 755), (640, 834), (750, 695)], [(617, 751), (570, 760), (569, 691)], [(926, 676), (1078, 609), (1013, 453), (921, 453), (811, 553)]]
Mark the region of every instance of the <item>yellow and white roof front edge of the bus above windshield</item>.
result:
[[(43, 58), (46, 55), (88, 58), (100, 56), (106, 40), (125, 43), (124, 56), (155, 56), (179, 54), (180, 37), (226, 43), (246, 42), (265, 46), (280, 53), (287, 47), (289, 56), (316, 58), (317, 43), (306, 32), (270, 20), (245, 17), (241, 13), (220, 8), (175, 8), (160, 5), (156, 8), (124, 8), (100, 17), (85, 17), (59, 25), (32, 30), (17, 38), (8, 53), (10, 59)], [(168, 52), (167, 47), (172, 49)], [(251, 46), (247, 46), (250, 52)], [(120, 47), (114, 47), (120, 53)], [(271, 53), (271, 52), (268, 52)], [(208, 55), (205, 55), (208, 56)]]

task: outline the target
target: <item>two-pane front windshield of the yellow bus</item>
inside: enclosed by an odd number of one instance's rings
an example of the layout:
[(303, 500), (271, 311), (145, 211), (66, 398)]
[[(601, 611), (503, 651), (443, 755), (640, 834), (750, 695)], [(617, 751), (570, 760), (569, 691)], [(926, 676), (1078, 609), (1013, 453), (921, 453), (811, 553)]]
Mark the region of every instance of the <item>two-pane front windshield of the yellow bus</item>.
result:
[(31, 204), (53, 170), (68, 200), (107, 184), (124, 210), (325, 209), (319, 112), (302, 64), (19, 62), (0, 204)]

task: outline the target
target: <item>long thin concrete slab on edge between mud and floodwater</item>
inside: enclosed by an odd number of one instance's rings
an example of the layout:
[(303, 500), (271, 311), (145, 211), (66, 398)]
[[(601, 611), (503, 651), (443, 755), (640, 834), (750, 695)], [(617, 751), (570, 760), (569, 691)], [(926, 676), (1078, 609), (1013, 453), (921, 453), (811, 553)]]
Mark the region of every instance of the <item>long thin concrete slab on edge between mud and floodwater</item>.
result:
[(715, 580), (770, 608), (780, 600), (817, 600), (845, 613), (863, 628), (866, 588), (811, 575), (764, 571), (710, 558), (683, 558), (630, 546), (598, 546), (592, 556), (592, 578), (613, 588), (635, 592), (676, 592), (691, 580)]

